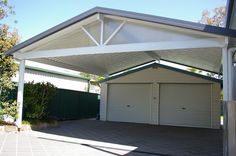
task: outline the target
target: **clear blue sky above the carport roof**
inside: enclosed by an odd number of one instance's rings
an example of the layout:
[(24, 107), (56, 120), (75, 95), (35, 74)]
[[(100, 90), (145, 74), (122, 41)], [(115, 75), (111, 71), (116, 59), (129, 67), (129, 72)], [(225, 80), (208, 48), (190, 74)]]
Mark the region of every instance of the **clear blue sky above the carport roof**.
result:
[[(15, 16), (6, 22), (29, 39), (93, 7), (107, 7), (198, 22), (204, 9), (212, 11), (227, 0), (9, 0)], [(18, 22), (13, 23), (14, 20)]]

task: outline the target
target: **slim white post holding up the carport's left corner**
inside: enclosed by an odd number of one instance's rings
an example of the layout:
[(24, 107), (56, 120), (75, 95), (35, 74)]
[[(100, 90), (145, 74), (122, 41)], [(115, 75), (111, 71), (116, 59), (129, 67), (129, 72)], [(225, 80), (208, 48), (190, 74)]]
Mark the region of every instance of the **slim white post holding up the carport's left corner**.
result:
[(22, 123), (24, 73), (25, 73), (25, 60), (21, 60), (19, 68), (19, 82), (18, 82), (18, 92), (17, 92), (18, 118), (16, 120), (16, 125), (18, 128), (21, 128), (21, 123)]

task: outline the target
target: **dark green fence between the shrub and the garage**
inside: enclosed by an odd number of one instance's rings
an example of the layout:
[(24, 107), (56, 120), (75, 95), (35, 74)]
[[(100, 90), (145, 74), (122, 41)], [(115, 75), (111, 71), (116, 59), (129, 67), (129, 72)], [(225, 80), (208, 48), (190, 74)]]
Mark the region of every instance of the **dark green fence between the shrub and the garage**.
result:
[[(17, 91), (11, 91), (9, 99), (16, 99), (16, 96)], [(58, 120), (95, 118), (99, 113), (99, 103), (98, 94), (57, 89), (47, 109), (49, 117)]]

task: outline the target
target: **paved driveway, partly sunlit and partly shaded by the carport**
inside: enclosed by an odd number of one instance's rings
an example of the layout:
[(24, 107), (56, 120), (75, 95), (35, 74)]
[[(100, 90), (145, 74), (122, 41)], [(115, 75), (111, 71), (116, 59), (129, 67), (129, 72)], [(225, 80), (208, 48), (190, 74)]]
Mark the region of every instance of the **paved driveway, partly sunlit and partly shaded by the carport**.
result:
[(220, 130), (79, 120), (0, 133), (0, 156), (221, 156)]

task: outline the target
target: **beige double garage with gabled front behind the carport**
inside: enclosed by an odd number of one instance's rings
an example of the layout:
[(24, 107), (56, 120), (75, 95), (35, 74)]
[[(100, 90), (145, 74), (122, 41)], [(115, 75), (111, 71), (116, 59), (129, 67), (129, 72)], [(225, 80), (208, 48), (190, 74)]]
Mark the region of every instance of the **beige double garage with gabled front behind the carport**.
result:
[(158, 63), (102, 82), (104, 121), (184, 127), (220, 127), (220, 84), (215, 78)]

